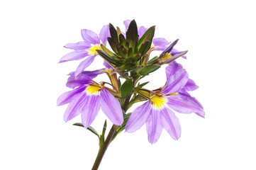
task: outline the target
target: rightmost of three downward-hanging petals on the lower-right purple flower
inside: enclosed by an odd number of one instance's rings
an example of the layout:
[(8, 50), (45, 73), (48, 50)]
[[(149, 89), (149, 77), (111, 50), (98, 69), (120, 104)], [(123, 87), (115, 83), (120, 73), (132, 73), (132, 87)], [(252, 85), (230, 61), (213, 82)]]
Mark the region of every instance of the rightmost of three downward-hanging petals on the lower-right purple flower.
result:
[(172, 139), (178, 140), (182, 133), (182, 129), (179, 125), (179, 119), (176, 117), (174, 112), (169, 108), (162, 108), (160, 120), (162, 126), (167, 130), (169, 135), (171, 135)]

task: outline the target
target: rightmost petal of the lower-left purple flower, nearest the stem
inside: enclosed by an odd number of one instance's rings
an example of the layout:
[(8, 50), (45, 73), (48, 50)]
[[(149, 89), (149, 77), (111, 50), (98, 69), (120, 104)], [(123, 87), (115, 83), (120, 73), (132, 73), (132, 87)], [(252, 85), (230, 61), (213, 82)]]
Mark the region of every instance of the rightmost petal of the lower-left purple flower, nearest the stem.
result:
[(101, 90), (101, 110), (115, 125), (122, 125), (123, 111), (119, 101), (106, 89)]

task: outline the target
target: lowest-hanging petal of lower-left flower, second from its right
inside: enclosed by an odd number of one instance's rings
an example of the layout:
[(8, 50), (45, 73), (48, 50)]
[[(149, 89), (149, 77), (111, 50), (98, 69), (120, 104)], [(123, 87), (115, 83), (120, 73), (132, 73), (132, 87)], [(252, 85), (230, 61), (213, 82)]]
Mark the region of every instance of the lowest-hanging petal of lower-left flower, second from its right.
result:
[(82, 107), (82, 123), (84, 128), (88, 128), (99, 113), (101, 106), (99, 95), (88, 95), (87, 100)]

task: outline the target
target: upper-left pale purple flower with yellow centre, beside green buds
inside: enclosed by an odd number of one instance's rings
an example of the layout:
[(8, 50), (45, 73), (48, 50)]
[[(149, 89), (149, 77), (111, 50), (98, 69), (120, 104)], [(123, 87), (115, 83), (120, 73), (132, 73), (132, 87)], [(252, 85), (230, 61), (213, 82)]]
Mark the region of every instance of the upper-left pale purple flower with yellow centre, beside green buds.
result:
[(86, 60), (82, 61), (77, 70), (74, 72), (74, 76), (78, 77), (84, 69), (89, 67), (89, 65), (94, 62), (94, 58), (98, 53), (96, 50), (101, 50), (101, 42), (106, 45), (106, 39), (110, 36), (108, 25), (103, 26), (99, 33), (99, 36), (92, 30), (81, 30), (83, 41), (77, 43), (69, 43), (64, 47), (74, 50), (69, 52), (67, 55), (60, 59), (60, 62), (67, 62), (72, 60), (80, 60), (87, 57)]

